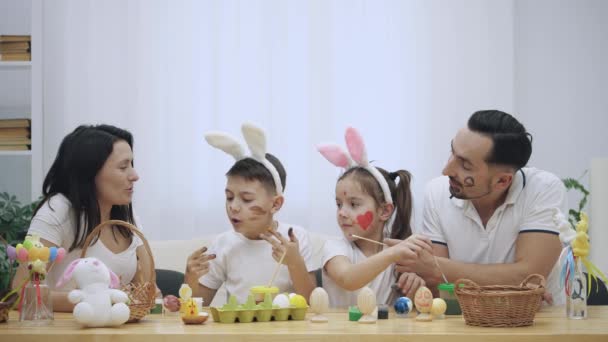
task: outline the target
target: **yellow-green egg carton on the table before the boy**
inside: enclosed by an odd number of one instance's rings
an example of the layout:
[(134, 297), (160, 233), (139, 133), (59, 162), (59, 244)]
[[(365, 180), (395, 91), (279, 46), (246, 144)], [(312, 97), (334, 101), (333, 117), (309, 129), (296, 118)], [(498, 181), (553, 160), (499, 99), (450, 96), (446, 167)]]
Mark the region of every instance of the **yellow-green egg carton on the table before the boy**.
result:
[(213, 321), (220, 323), (251, 323), (274, 321), (302, 321), (306, 318), (306, 307), (289, 306), (281, 308), (272, 305), (272, 297), (266, 294), (264, 301), (255, 304), (253, 296), (247, 298), (247, 303), (237, 305), (236, 297), (230, 296), (228, 303), (222, 307), (211, 307)]

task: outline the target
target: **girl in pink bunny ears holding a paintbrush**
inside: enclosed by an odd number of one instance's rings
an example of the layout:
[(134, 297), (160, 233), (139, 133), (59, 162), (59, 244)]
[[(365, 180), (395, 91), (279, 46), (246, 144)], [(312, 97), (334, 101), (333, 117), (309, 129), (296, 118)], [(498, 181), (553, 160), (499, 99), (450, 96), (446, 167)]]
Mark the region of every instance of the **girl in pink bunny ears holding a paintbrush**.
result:
[[(376, 293), (378, 304), (392, 303), (398, 294), (394, 284), (413, 298), (424, 281), (414, 273), (397, 277), (394, 263), (415, 262), (419, 251), (431, 252), (432, 247), (428, 238), (411, 236), (411, 175), (371, 166), (354, 128), (346, 130), (346, 144), (350, 156), (335, 145), (319, 147), (332, 164), (346, 169), (336, 184), (336, 214), (344, 237), (327, 241), (323, 248), (323, 287), (330, 306), (355, 305), (357, 290), (364, 286)], [(387, 248), (381, 241), (388, 237), (405, 240)]]

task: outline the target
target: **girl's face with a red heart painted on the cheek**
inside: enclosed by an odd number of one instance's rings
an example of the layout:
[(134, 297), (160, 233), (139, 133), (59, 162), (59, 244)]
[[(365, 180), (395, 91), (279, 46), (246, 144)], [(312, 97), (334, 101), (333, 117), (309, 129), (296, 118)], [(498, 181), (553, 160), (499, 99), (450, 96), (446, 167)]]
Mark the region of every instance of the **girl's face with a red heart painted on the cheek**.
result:
[(336, 206), (338, 224), (350, 241), (356, 240), (350, 234), (376, 239), (378, 230), (384, 227), (382, 209), (353, 177), (343, 178), (336, 184)]

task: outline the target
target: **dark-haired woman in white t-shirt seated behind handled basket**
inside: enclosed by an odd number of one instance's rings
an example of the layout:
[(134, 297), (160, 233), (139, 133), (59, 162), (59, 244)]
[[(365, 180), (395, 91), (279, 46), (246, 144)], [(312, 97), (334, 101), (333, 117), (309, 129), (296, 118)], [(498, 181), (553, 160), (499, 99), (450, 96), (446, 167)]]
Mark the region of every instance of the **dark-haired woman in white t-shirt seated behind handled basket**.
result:
[[(131, 200), (139, 176), (133, 168), (132, 148), (131, 133), (110, 125), (79, 126), (59, 146), (28, 230), (40, 236), (43, 245), (67, 251), (47, 276), (55, 311), (70, 312), (74, 307), (67, 300), (73, 284), (60, 289), (55, 284), (67, 265), (80, 257), (89, 233), (110, 219), (136, 223)], [(141, 240), (117, 226), (102, 229), (86, 254), (103, 261), (122, 284), (131, 282), (138, 269), (148, 270), (150, 262)], [(21, 267), (13, 286), (26, 276), (27, 270)]]

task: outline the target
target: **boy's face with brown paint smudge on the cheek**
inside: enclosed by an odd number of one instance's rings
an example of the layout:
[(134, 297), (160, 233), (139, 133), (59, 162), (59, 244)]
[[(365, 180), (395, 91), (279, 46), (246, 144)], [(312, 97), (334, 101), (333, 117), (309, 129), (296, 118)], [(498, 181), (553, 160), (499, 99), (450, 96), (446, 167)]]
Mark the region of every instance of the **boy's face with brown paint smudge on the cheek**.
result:
[(282, 197), (270, 193), (260, 181), (228, 176), (226, 214), (234, 230), (245, 237), (259, 239), (271, 227), (282, 203)]

